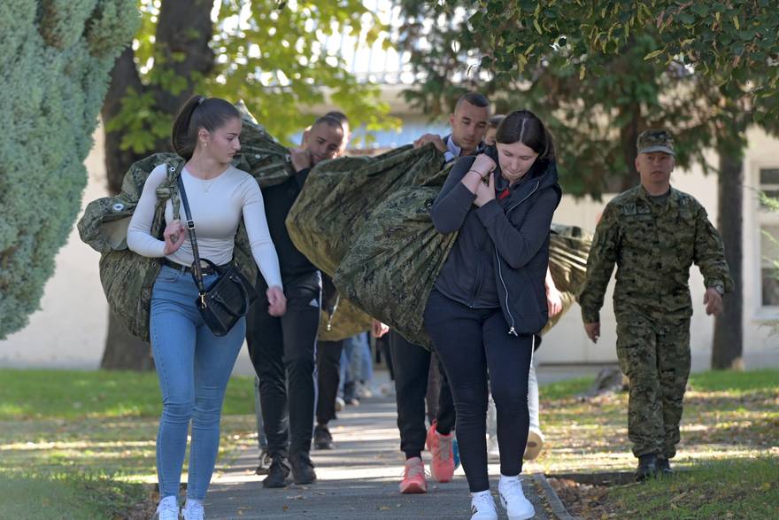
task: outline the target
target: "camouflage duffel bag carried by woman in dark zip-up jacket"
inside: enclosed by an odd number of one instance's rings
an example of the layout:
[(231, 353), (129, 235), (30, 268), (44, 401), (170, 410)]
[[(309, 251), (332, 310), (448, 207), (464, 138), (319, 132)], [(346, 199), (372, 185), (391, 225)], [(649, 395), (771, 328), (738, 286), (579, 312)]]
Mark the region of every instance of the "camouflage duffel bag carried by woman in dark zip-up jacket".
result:
[(333, 276), (338, 291), (404, 338), (430, 346), (423, 314), (457, 233), (430, 218), (437, 187), (406, 186), (374, 209)]

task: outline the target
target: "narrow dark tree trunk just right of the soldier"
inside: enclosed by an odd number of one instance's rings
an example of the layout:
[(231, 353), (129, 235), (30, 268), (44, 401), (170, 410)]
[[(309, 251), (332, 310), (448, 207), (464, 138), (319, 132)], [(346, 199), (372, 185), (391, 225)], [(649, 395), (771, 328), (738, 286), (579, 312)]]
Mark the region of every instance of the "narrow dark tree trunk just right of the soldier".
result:
[(734, 290), (725, 295), (724, 311), (714, 320), (712, 369), (743, 369), (744, 361), (744, 286), (742, 283), (742, 221), (744, 166), (740, 153), (720, 146), (719, 216), (717, 228), (725, 244)]

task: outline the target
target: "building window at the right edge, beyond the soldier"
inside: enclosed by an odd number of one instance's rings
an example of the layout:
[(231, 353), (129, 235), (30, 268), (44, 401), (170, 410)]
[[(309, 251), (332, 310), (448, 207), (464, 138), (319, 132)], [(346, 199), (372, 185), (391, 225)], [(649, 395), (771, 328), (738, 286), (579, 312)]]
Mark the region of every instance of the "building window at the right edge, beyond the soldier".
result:
[[(760, 169), (760, 190), (779, 199), (779, 168)], [(760, 302), (779, 307), (779, 212), (760, 206)]]

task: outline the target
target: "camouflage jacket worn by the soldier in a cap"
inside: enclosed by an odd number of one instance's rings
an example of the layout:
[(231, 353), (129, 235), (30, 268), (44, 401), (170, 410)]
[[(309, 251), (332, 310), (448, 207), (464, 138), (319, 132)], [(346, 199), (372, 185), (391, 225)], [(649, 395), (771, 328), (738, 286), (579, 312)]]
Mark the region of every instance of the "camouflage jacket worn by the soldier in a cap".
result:
[(666, 203), (659, 205), (640, 184), (621, 193), (605, 206), (592, 240), (586, 280), (577, 298), (584, 322), (600, 320), (615, 263), (617, 315), (690, 317), (693, 262), (706, 287), (721, 284), (725, 291), (733, 290), (720, 235), (698, 200), (672, 188)]

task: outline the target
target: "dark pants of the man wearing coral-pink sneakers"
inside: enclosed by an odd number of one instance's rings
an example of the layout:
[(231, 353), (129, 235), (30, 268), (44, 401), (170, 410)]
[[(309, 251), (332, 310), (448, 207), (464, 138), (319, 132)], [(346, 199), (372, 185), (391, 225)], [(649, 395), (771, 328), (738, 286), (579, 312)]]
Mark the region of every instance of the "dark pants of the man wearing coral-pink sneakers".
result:
[[(400, 450), (405, 457), (419, 457), (425, 448), (425, 395), (431, 353), (420, 345), (409, 343), (403, 336), (390, 331), (390, 354), (395, 369), (395, 400), (397, 429), (400, 431)], [(437, 430), (449, 433), (454, 429), (455, 413), (451, 392), (441, 370), (441, 388), (436, 411)]]

